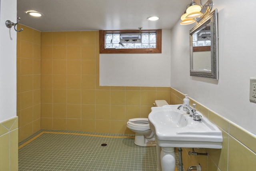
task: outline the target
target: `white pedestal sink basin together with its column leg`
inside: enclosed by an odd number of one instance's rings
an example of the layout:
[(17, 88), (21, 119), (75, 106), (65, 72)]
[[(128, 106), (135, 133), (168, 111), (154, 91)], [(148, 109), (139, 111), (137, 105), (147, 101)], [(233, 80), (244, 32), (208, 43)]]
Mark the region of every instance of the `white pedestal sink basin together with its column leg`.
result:
[(157, 143), (157, 170), (174, 171), (174, 147), (222, 148), (222, 132), (202, 115), (194, 121), (179, 105), (152, 107), (148, 115)]

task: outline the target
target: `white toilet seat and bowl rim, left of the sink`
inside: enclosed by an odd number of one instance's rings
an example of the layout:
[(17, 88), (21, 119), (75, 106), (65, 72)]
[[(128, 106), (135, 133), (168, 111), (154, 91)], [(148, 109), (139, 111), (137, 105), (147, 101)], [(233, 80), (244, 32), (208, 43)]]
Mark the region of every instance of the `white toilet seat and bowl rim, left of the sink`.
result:
[(129, 121), (127, 122), (127, 127), (138, 131), (146, 131), (150, 129), (148, 118), (129, 119)]

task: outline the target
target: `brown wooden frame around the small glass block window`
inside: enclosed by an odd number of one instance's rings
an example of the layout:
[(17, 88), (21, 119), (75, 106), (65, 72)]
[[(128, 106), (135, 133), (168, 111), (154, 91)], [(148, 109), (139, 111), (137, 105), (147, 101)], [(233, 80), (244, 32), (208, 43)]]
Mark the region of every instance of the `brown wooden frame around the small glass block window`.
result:
[[(113, 33), (156, 33), (156, 48), (106, 49), (106, 34)], [(162, 30), (100, 30), (100, 54), (146, 54), (162, 53)]]

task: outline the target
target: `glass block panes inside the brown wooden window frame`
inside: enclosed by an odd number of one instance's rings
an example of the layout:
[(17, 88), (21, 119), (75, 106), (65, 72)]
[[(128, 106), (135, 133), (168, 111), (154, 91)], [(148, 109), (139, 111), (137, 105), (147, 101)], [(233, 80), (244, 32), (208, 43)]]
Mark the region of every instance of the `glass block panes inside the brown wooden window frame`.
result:
[(156, 48), (156, 33), (141, 33), (141, 39), (125, 43), (120, 39), (120, 34), (106, 34), (106, 49), (141, 49)]

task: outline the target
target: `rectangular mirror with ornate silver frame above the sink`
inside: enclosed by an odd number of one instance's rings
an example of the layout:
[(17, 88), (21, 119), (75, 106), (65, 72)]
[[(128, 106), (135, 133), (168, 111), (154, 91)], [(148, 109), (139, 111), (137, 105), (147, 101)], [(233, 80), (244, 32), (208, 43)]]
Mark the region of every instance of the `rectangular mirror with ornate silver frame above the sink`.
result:
[(218, 80), (217, 9), (190, 30), (190, 76)]

